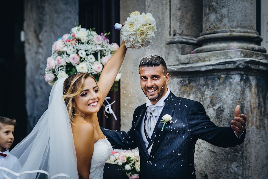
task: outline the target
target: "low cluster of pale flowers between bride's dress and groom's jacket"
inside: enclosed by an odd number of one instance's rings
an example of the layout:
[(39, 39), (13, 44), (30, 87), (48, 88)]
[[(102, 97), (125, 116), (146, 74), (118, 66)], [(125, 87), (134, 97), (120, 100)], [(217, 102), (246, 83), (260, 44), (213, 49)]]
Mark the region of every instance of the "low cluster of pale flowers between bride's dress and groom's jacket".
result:
[(140, 155), (134, 152), (112, 152), (106, 163), (121, 166), (122, 170), (128, 175), (139, 174), (141, 169)]

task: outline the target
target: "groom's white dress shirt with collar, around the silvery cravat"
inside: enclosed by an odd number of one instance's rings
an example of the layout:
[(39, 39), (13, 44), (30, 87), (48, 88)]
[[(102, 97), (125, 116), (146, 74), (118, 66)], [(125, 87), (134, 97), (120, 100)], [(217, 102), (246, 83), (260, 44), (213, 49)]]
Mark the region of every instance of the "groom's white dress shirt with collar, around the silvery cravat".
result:
[[(163, 110), (163, 108), (165, 106), (165, 99), (169, 96), (169, 93), (170, 93), (170, 90), (168, 89), (166, 94), (154, 105), (154, 107), (158, 110), (158, 116), (155, 117), (156, 122), (158, 121), (158, 118), (161, 115), (161, 112), (162, 112), (162, 110)], [(153, 106), (153, 104), (151, 103), (151, 101), (149, 99), (147, 99), (147, 103), (146, 103), (146, 107), (148, 107), (148, 106)], [(148, 145), (149, 145), (149, 142), (147, 141), (147, 138), (146, 138), (145, 133), (144, 133), (144, 118), (145, 118), (145, 115), (146, 115), (146, 112), (145, 112), (145, 114), (144, 114), (144, 116), (142, 118), (142, 121), (141, 121), (141, 136), (142, 136), (144, 144), (145, 144), (145, 146), (147, 148)], [(156, 124), (156, 122), (155, 122), (155, 124)], [(153, 133), (152, 135), (155, 135), (155, 134)], [(153, 146), (153, 144), (148, 149), (149, 154), (151, 153), (152, 146)]]

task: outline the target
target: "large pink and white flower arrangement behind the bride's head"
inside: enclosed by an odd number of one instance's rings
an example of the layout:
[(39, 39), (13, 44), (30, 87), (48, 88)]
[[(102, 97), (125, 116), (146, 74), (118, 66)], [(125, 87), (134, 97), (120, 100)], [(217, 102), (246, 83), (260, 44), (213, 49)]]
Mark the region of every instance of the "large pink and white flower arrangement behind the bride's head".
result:
[[(50, 85), (76, 72), (88, 72), (99, 80), (102, 68), (119, 48), (109, 43), (110, 33), (97, 34), (94, 29), (76, 26), (53, 43), (52, 55), (47, 58), (45, 80)], [(116, 77), (119, 81), (121, 73)]]

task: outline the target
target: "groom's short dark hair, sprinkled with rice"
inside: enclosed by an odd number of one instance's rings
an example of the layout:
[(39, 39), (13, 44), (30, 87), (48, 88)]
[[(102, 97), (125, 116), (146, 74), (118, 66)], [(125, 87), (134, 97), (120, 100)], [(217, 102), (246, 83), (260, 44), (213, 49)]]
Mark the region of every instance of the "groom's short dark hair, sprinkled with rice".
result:
[(160, 65), (162, 65), (163, 71), (166, 74), (167, 68), (166, 68), (165, 60), (161, 56), (158, 56), (158, 55), (148, 55), (148, 56), (141, 58), (139, 67), (158, 67)]

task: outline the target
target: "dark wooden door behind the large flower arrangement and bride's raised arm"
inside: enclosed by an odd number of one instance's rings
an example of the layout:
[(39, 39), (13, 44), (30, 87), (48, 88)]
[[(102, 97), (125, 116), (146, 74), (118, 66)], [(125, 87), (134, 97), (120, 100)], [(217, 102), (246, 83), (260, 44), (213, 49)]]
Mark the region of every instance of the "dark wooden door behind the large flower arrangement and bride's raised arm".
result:
[[(114, 24), (119, 22), (120, 4), (119, 0), (80, 0), (79, 1), (79, 24), (86, 28), (95, 28), (100, 34), (102, 32), (110, 32), (110, 43), (120, 42), (120, 31), (114, 29)], [(120, 45), (120, 44), (119, 44)], [(120, 83), (114, 84), (107, 97), (109, 103), (116, 101), (111, 105), (113, 112), (117, 117), (117, 121), (112, 114), (108, 118), (105, 117), (105, 107), (98, 112), (100, 126), (111, 129), (120, 130)], [(107, 105), (106, 101), (104, 105)]]

